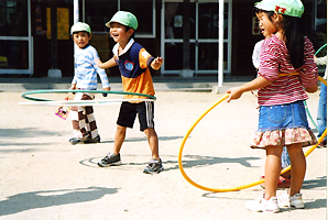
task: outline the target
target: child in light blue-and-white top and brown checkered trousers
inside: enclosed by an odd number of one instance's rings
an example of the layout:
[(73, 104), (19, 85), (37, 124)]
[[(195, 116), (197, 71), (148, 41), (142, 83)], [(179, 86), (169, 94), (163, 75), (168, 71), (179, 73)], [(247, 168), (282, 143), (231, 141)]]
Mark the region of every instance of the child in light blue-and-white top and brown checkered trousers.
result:
[[(109, 81), (103, 69), (96, 65), (99, 59), (98, 53), (89, 45), (91, 38), (90, 26), (86, 23), (78, 22), (70, 29), (73, 41), (76, 43), (75, 51), (75, 75), (70, 89), (96, 90), (97, 73), (100, 76), (103, 90), (109, 91)], [(74, 100), (92, 100), (94, 94), (76, 92)], [(74, 138), (69, 142), (74, 144), (81, 143), (99, 143), (100, 135), (94, 117), (94, 108), (88, 107), (70, 107), (70, 118), (73, 123)]]

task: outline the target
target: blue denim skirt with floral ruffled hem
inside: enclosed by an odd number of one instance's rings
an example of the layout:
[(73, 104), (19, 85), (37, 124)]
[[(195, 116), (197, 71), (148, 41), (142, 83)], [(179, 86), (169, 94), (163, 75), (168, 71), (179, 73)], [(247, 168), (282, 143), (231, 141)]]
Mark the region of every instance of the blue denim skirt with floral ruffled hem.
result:
[(251, 147), (287, 146), (303, 143), (308, 146), (317, 143), (317, 139), (308, 127), (303, 101), (287, 105), (261, 106), (259, 128)]

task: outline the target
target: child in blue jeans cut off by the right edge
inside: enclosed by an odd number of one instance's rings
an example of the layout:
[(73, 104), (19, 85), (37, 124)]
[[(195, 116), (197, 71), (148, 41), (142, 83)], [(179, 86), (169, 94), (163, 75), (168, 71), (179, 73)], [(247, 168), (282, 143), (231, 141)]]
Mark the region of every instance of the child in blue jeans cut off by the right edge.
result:
[[(316, 57), (317, 65), (326, 65), (325, 76), (324, 79), (327, 80), (327, 65), (328, 56), (324, 57)], [(327, 128), (327, 86), (325, 84), (321, 84), (320, 88), (320, 98), (319, 98), (319, 105), (318, 105), (318, 113), (317, 113), (317, 122), (318, 122), (318, 129), (319, 133), (318, 136), (321, 136), (324, 131)], [(318, 147), (327, 147), (327, 138), (318, 145)]]

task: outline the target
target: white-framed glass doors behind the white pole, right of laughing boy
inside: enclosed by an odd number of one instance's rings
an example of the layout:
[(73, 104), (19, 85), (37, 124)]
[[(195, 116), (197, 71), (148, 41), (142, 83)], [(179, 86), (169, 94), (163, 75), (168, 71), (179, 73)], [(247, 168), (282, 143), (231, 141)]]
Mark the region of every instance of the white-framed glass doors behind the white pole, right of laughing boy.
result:
[[(183, 2), (163, 1), (162, 7), (162, 74), (178, 74), (183, 69)], [(190, 2), (190, 69), (195, 75), (218, 73), (219, 3), (217, 0)], [(231, 1), (225, 1), (223, 73), (231, 69)]]

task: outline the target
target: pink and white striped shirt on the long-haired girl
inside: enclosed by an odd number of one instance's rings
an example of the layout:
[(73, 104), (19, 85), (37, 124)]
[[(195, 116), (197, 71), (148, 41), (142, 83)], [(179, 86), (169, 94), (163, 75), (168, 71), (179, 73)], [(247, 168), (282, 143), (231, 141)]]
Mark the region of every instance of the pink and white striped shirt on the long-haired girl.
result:
[[(304, 38), (304, 65), (295, 69), (289, 61), (288, 50), (283, 41), (273, 35), (266, 38), (261, 48), (259, 76), (272, 81), (259, 89), (260, 106), (274, 106), (306, 100), (304, 88), (318, 82), (318, 69), (314, 59), (314, 47), (309, 38)], [(278, 74), (299, 73), (299, 76), (281, 76)]]

